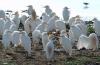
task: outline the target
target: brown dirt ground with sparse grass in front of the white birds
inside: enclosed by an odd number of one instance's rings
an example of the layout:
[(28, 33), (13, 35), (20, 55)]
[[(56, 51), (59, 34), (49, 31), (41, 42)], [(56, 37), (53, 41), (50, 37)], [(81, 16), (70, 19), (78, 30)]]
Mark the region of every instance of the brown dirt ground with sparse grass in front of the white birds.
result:
[(75, 50), (72, 56), (64, 51), (55, 51), (52, 61), (47, 61), (42, 46), (32, 48), (27, 57), (23, 48), (0, 49), (0, 65), (100, 65), (100, 50)]

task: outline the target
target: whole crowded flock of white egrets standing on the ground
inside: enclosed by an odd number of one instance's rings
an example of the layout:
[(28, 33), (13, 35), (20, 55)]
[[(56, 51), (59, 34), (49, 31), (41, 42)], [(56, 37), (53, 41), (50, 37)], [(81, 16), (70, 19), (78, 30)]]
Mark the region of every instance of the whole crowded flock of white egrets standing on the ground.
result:
[(41, 16), (37, 16), (32, 5), (27, 7), (22, 13), (27, 13), (28, 16), (20, 16), (18, 11), (13, 14), (13, 11), (0, 10), (0, 36), (5, 50), (10, 48), (10, 44), (13, 48), (21, 45), (28, 56), (31, 56), (32, 45), (38, 48), (41, 44), (45, 57), (51, 61), (57, 41), (70, 56), (74, 46), (77, 50), (99, 49), (100, 21), (97, 18), (91, 20), (95, 33), (88, 34), (88, 22), (82, 20), (79, 15), (70, 17), (68, 7), (63, 8), (63, 19), (48, 5), (44, 6), (45, 12)]

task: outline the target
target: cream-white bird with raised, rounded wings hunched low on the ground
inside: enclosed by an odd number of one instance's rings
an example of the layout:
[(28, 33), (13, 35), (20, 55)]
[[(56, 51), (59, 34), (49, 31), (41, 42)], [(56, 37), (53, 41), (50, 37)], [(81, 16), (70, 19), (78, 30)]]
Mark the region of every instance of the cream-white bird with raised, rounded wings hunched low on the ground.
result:
[(77, 48), (81, 49), (84, 47), (86, 49), (96, 50), (98, 49), (98, 44), (99, 44), (99, 41), (98, 41), (97, 35), (95, 33), (91, 33), (89, 37), (85, 35), (81, 35), (79, 37)]

